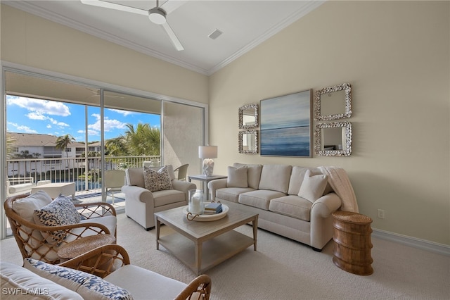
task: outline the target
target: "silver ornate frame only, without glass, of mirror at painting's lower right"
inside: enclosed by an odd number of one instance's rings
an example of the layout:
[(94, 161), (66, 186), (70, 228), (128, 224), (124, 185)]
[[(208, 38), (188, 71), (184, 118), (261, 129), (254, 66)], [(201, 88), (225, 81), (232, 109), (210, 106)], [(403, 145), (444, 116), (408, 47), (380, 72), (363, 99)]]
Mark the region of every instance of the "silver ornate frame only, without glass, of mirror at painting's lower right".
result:
[[(345, 132), (345, 149), (342, 150), (325, 150), (322, 149), (322, 129), (343, 127)], [(316, 125), (316, 154), (320, 156), (349, 156), (352, 154), (352, 123), (350, 122), (334, 122), (334, 123), (321, 123)]]

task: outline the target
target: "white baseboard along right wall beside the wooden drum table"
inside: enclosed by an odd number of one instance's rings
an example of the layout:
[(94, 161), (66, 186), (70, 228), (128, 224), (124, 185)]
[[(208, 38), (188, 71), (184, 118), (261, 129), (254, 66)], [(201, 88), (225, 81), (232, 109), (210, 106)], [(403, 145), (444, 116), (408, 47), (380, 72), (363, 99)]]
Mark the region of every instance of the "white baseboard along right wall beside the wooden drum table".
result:
[(386, 239), (390, 242), (396, 242), (399, 244), (404, 244), (407, 246), (412, 246), (418, 249), (423, 249), (426, 251), (434, 252), (437, 254), (442, 254), (445, 256), (450, 256), (450, 246), (439, 244), (435, 242), (430, 242), (425, 239), (417, 239), (416, 237), (408, 237), (406, 235), (399, 235), (394, 232), (388, 232), (385, 230), (380, 230), (372, 228), (372, 237), (377, 237), (378, 239)]

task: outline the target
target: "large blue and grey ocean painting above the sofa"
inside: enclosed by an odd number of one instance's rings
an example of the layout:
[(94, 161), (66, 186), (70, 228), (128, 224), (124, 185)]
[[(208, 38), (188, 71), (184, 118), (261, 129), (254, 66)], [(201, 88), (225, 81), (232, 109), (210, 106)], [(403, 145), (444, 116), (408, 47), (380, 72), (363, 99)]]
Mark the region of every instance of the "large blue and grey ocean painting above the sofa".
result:
[(311, 157), (311, 90), (261, 100), (262, 156)]

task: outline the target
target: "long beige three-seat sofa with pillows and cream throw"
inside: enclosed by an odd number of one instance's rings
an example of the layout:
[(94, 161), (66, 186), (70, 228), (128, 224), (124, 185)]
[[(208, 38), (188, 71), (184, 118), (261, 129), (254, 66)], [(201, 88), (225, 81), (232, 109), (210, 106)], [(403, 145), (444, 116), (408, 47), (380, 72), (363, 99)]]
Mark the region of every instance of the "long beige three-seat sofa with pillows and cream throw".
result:
[(358, 210), (342, 168), (235, 163), (228, 176), (209, 182), (212, 200), (258, 213), (258, 227), (316, 251), (333, 236), (334, 211)]

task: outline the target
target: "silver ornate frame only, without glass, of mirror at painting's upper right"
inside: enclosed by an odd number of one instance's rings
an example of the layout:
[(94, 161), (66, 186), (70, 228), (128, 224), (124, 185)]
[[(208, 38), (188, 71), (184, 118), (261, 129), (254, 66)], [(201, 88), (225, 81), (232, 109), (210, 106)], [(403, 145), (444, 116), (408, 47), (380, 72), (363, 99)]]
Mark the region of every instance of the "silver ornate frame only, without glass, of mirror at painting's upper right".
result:
[[(345, 112), (336, 113), (334, 115), (321, 115), (321, 95), (342, 90), (345, 91)], [(316, 91), (314, 99), (316, 120), (339, 120), (350, 118), (352, 116), (352, 86), (349, 83), (342, 83), (342, 85), (334, 85), (333, 87), (324, 87), (323, 89), (319, 89), (319, 91)]]

